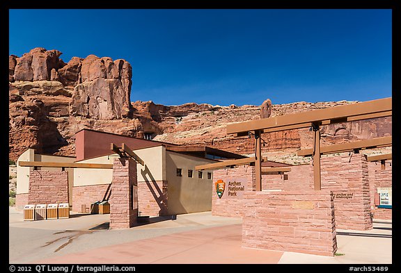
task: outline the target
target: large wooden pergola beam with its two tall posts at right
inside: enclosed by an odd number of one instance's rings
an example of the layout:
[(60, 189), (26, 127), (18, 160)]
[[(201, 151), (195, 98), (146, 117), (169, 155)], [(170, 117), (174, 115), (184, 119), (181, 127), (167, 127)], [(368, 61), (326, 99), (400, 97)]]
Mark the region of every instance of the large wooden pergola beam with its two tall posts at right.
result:
[(392, 98), (376, 99), (302, 113), (278, 117), (268, 117), (249, 122), (228, 124), (226, 133), (235, 136), (254, 135), (255, 137), (255, 182), (256, 190), (262, 190), (262, 133), (272, 133), (290, 129), (311, 128), (313, 130), (313, 176), (315, 190), (321, 189), (320, 177), (320, 126), (361, 119), (389, 117), (392, 115)]

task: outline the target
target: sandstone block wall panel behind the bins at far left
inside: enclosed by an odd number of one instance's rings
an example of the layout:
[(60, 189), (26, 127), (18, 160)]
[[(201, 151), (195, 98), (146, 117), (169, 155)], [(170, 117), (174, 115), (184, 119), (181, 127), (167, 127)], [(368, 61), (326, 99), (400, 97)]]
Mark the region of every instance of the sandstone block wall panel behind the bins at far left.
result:
[(28, 204), (68, 203), (68, 172), (29, 172)]

